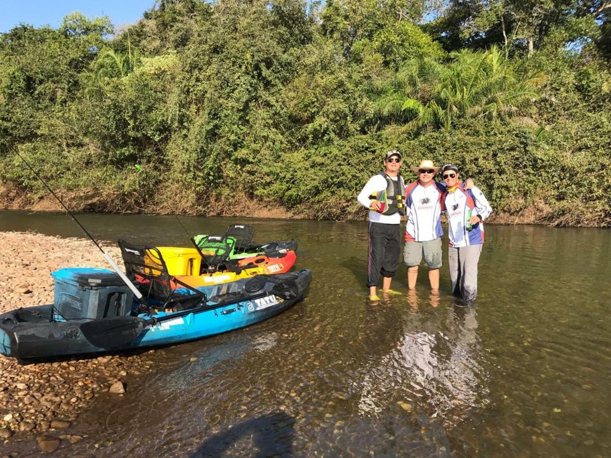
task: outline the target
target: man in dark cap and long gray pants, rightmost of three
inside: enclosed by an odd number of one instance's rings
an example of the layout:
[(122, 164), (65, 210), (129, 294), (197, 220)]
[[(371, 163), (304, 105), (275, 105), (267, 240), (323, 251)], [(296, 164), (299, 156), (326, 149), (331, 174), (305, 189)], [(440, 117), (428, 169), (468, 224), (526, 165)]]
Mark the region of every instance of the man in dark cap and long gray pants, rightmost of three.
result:
[(478, 187), (466, 189), (464, 183), (459, 183), (456, 165), (444, 165), (441, 173), (446, 186), (441, 203), (448, 217), (452, 293), (472, 301), (477, 297), (477, 264), (484, 244), (483, 220), (492, 213), (492, 208)]

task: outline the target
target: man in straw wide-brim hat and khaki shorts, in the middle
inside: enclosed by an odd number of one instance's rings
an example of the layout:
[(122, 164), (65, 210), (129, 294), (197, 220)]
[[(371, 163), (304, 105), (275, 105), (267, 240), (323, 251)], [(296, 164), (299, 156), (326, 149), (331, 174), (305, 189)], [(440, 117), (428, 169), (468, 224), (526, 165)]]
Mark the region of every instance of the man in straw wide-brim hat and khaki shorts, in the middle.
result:
[(439, 292), (441, 258), (441, 195), (445, 186), (434, 181), (441, 167), (433, 161), (420, 161), (410, 167), (418, 174), (417, 181), (406, 187), (406, 226), (403, 262), (408, 266), (408, 288), (414, 289), (418, 266), (424, 257), (428, 266), (428, 280), (433, 293)]

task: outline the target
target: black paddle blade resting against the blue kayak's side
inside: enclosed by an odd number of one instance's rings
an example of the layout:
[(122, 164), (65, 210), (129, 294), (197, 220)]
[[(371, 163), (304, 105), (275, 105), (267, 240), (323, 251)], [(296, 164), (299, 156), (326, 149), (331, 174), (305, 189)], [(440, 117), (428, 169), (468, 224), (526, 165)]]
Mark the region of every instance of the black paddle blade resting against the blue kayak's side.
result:
[(90, 344), (110, 350), (130, 343), (141, 335), (147, 325), (137, 316), (115, 316), (100, 318), (81, 324), (82, 335)]

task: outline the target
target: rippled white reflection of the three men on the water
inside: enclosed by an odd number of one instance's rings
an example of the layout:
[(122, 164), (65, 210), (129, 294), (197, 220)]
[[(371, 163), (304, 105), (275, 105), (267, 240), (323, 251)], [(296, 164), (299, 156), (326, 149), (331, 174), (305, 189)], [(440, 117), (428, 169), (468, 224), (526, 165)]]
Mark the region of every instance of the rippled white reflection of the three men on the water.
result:
[(417, 313), (406, 314), (403, 327), (396, 348), (356, 374), (360, 414), (378, 415), (397, 402), (408, 412), (422, 408), (448, 429), (470, 409), (488, 404), (487, 374), (478, 364), (475, 307), (448, 308), (434, 332)]

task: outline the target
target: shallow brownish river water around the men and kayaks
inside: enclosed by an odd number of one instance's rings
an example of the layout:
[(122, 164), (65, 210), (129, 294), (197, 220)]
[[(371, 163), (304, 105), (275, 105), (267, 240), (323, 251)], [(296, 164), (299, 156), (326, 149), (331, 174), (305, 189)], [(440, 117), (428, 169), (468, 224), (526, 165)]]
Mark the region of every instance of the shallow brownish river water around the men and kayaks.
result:
[[(188, 246), (174, 217), (79, 219), (106, 244)], [(89, 437), (58, 452), (611, 456), (610, 230), (486, 227), (479, 295), (460, 307), (447, 266), (438, 297), (424, 269), (409, 294), (402, 266), (403, 294), (368, 302), (365, 222), (181, 220), (192, 233), (245, 222), (257, 241), (295, 237), (309, 293), (268, 321), (156, 352), (156, 373), (101, 396), (68, 431)], [(1, 212), (0, 230), (81, 235), (48, 213)]]

